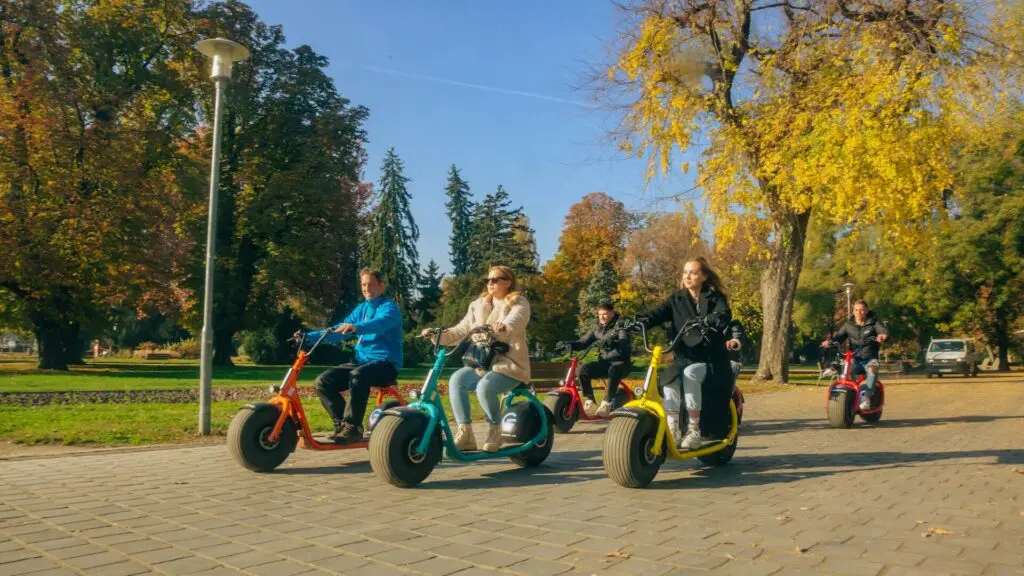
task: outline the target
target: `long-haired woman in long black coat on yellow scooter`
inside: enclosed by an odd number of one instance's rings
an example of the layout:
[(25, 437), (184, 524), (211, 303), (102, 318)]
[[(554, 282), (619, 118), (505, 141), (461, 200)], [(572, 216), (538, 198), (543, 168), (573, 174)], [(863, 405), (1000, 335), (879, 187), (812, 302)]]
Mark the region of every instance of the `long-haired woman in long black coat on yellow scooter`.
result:
[[(735, 384), (729, 365), (726, 340), (732, 312), (721, 279), (703, 257), (694, 258), (683, 266), (682, 288), (653, 311), (638, 317), (645, 328), (672, 323), (670, 335), (685, 330), (673, 347), (675, 360), (670, 373), (675, 377), (665, 383), (665, 411), (669, 429), (680, 448), (694, 450), (700, 447), (700, 414), (707, 400), (713, 401), (715, 436), (721, 435), (724, 414), (728, 415), (728, 398)], [(682, 389), (680, 389), (682, 388)], [(705, 395), (705, 392), (711, 394)], [(682, 393), (682, 394), (680, 394)], [(685, 400), (688, 430), (682, 436), (679, 411)], [(682, 438), (680, 438), (682, 437)]]

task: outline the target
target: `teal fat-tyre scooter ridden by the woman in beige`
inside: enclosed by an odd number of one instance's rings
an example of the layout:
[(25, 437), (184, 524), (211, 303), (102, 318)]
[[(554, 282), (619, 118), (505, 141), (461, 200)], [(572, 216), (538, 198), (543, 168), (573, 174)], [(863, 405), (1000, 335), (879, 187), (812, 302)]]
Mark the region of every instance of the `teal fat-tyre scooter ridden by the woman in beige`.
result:
[[(423, 387), (413, 394), (417, 401), (385, 410), (370, 437), (370, 465), (374, 471), (394, 486), (417, 486), (440, 461), (442, 448), (449, 458), (461, 462), (508, 458), (522, 467), (541, 465), (551, 454), (555, 442), (554, 415), (537, 399), (532, 389), (523, 384), (513, 388), (502, 403), (502, 437), (509, 445), (497, 452), (463, 452), (456, 448), (455, 435), (437, 394), (437, 379), (450, 352), (438, 343), (441, 332), (443, 329), (430, 332), (434, 342), (434, 365)], [(494, 337), (489, 326), (474, 328), (466, 337), (473, 334)], [(513, 403), (516, 398), (524, 400)]]

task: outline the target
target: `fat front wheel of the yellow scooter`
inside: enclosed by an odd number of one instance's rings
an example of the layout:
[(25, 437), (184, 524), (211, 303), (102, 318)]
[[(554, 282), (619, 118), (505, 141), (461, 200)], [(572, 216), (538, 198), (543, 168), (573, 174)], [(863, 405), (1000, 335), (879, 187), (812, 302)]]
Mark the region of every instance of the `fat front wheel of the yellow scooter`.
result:
[(651, 448), (657, 438), (657, 417), (653, 414), (616, 416), (604, 433), (601, 457), (604, 472), (626, 488), (643, 488), (654, 480), (665, 463), (665, 446), (654, 455)]

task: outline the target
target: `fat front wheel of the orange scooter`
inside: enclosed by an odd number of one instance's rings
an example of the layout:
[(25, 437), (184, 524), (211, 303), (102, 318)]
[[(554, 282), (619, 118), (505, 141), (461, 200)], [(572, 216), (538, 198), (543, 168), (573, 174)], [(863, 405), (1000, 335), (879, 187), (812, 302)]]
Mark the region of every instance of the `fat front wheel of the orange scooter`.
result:
[(299, 435), (291, 418), (285, 420), (278, 440), (269, 440), (281, 409), (268, 402), (239, 409), (227, 426), (227, 451), (246, 469), (268, 472), (280, 466), (295, 451)]

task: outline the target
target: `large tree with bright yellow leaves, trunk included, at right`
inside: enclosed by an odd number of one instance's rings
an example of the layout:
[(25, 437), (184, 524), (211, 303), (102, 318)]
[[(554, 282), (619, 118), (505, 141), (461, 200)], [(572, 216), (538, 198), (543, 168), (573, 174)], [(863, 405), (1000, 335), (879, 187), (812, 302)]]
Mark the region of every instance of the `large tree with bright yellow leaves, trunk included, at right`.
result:
[[(610, 85), (633, 98), (624, 148), (648, 155), (651, 173), (668, 172), (699, 134), (697, 181), (717, 236), (754, 220), (767, 239), (760, 377), (787, 376), (812, 215), (854, 231), (885, 222), (886, 242), (912, 245), (953, 183), (953, 120), (1019, 97), (1019, 68), (1006, 72), (1019, 52), (1006, 43), (1019, 45), (1024, 30), (999, 13), (1005, 6), (978, 14), (943, 0), (640, 0), (628, 8), (609, 70)], [(986, 76), (993, 67), (1006, 73)]]

